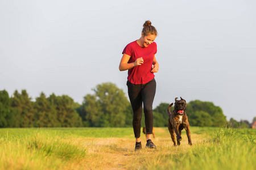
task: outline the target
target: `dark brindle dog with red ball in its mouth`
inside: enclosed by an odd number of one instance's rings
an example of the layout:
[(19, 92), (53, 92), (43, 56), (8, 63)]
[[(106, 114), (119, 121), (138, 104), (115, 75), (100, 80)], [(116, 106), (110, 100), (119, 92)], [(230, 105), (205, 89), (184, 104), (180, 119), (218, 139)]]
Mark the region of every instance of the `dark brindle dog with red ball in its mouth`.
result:
[[(169, 115), (168, 119), (168, 129), (171, 134), (172, 142), (174, 142), (174, 146), (180, 145), (181, 141), (181, 130), (185, 129), (188, 137), (188, 144), (192, 145), (190, 130), (189, 130), (189, 122), (188, 117), (185, 112), (187, 108), (187, 103), (184, 99), (180, 97), (181, 100), (177, 100), (175, 98), (175, 103), (171, 103), (167, 109), (167, 113)], [(174, 105), (174, 111), (170, 112), (172, 105)], [(175, 134), (177, 138), (177, 143), (175, 141)]]

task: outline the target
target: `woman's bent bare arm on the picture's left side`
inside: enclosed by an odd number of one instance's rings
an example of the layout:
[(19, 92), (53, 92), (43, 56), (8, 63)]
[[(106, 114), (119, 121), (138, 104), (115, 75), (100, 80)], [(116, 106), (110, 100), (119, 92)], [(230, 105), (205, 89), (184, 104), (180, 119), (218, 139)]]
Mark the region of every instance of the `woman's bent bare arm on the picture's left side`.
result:
[(120, 64), (119, 64), (119, 70), (120, 71), (125, 71), (125, 70), (129, 70), (135, 66), (139, 66), (139, 65), (142, 65), (143, 64), (143, 58), (137, 58), (135, 60), (135, 62), (131, 62), (131, 63), (128, 63), (129, 59), (130, 59), (131, 56), (128, 56), (127, 54), (123, 54), (123, 57), (120, 61)]

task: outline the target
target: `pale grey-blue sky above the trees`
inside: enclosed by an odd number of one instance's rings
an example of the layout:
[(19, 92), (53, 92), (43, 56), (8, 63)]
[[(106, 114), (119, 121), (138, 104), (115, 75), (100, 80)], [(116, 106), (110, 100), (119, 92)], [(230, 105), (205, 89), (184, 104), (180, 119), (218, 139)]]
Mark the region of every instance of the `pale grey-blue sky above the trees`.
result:
[[(209, 101), (227, 120), (256, 117), (256, 1), (0, 1), (0, 90), (68, 95), (111, 82), (127, 96), (122, 50), (157, 29), (153, 108)], [(189, 113), (187, 113), (189, 114)]]

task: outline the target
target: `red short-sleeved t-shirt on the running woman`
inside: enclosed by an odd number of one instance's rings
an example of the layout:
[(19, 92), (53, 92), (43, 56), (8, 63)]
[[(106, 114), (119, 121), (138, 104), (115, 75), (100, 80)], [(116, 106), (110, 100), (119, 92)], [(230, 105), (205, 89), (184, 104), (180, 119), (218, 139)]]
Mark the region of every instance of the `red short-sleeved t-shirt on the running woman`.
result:
[(143, 58), (144, 63), (128, 70), (128, 81), (133, 84), (146, 84), (154, 78), (152, 70), (152, 61), (157, 52), (156, 43), (152, 42), (147, 47), (141, 47), (137, 41), (130, 42), (123, 49), (123, 53), (130, 56), (128, 63), (134, 62), (137, 58)]

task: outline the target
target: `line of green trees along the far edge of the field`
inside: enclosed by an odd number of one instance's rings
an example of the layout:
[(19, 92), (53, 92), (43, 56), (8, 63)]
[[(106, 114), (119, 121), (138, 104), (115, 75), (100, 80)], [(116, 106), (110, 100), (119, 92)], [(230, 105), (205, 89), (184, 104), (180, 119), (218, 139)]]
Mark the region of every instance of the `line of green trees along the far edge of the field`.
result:
[[(26, 90), (20, 93), (16, 90), (12, 96), (2, 90), (0, 128), (132, 126), (133, 112), (122, 89), (108, 82), (98, 84), (93, 92), (84, 96), (82, 104), (79, 104), (67, 95), (51, 94), (47, 97), (42, 92), (32, 101)], [(160, 103), (154, 109), (155, 127), (167, 126), (168, 106), (168, 103)], [(187, 104), (187, 113), (191, 126), (227, 124), (222, 109), (210, 102), (190, 101)], [(143, 120), (144, 117), (142, 126)]]

